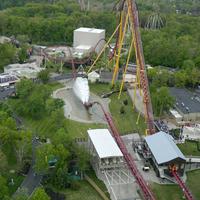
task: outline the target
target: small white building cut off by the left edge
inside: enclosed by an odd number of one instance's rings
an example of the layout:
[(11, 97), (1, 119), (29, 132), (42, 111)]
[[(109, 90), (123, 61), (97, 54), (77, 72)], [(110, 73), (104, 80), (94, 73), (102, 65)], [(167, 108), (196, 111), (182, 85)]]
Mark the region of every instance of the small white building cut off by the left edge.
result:
[(15, 84), (19, 78), (15, 75), (2, 73), (0, 74), (0, 87), (6, 87)]

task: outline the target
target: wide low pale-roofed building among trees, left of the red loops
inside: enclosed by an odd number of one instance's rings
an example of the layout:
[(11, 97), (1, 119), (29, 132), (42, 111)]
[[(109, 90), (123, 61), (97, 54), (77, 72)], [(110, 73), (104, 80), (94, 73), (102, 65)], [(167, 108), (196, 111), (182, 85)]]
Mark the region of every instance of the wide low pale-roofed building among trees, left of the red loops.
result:
[(15, 75), (18, 78), (34, 79), (37, 77), (37, 74), (44, 69), (45, 68), (39, 67), (36, 62), (24, 64), (17, 63), (4, 67), (4, 73)]

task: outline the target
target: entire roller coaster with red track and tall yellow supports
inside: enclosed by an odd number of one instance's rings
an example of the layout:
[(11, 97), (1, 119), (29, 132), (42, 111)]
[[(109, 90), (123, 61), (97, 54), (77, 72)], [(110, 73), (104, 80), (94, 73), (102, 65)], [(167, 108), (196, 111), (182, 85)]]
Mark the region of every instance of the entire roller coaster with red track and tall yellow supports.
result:
[[(129, 51), (128, 51), (126, 64), (123, 71), (123, 79), (121, 82), (120, 92), (119, 92), (118, 97), (120, 98), (121, 92), (123, 90), (125, 74), (127, 72), (128, 64), (131, 58), (131, 53), (135, 52), (135, 60), (137, 64), (135, 89), (139, 89), (140, 94), (143, 97), (143, 104), (144, 104), (144, 109), (145, 109), (144, 117), (147, 123), (146, 135), (154, 134), (155, 127), (154, 127), (153, 110), (152, 110), (151, 98), (150, 98), (150, 93), (149, 93), (149, 85), (148, 85), (148, 79), (147, 79), (145, 62), (144, 62), (143, 48), (142, 48), (142, 42), (141, 42), (141, 36), (140, 36), (140, 30), (139, 30), (138, 10), (136, 7), (136, 3), (134, 0), (119, 1), (118, 10), (120, 10), (120, 23), (117, 26), (114, 33), (112, 34), (112, 36), (110, 37), (110, 39), (106, 42), (104, 48), (97, 56), (94, 63), (89, 68), (88, 73), (93, 69), (93, 67), (95, 67), (95, 64), (97, 63), (98, 59), (101, 57), (105, 49), (110, 46), (109, 44), (112, 41), (113, 37), (117, 36), (116, 37), (117, 41), (115, 43), (116, 45), (112, 49), (112, 55), (109, 57), (109, 59), (114, 60), (114, 63), (115, 63), (114, 73), (113, 73), (113, 78), (112, 78), (112, 85), (114, 86), (117, 74), (119, 72), (119, 63), (120, 63), (122, 47), (125, 42), (125, 37), (127, 35), (127, 32), (129, 32), (129, 35), (131, 35), (131, 40), (129, 44)], [(104, 116), (108, 122), (108, 125), (111, 129), (112, 135), (115, 138), (119, 148), (121, 149), (131, 173), (134, 175), (138, 185), (140, 186), (144, 199), (155, 200), (156, 198), (154, 194), (152, 193), (150, 187), (148, 186), (147, 182), (142, 177), (139, 170), (137, 169), (133, 158), (131, 157), (125, 144), (123, 143), (123, 140), (120, 137), (119, 131), (117, 130), (117, 128), (115, 127), (113, 123), (112, 116), (110, 115), (110, 113), (106, 112), (103, 106), (98, 102), (89, 103), (88, 101), (84, 101), (84, 104), (86, 107), (91, 107), (93, 104), (100, 105), (100, 107), (103, 110)], [(193, 200), (192, 194), (186, 187), (185, 183), (179, 177), (176, 171), (176, 167), (169, 166), (169, 168), (171, 169), (171, 174), (174, 176), (178, 185), (181, 187), (185, 197), (188, 200)]]

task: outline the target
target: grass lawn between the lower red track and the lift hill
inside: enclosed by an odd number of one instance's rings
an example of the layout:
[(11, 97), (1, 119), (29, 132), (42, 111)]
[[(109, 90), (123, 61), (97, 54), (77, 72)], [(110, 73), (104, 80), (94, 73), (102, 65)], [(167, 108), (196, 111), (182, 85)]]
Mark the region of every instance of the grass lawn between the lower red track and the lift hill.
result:
[[(97, 95), (101, 95), (109, 92), (110, 86), (108, 84), (91, 84), (90, 90)], [(120, 133), (122, 135), (133, 132), (144, 134), (146, 129), (145, 120), (140, 116), (138, 124), (136, 124), (138, 113), (133, 110), (133, 104), (128, 94), (123, 92), (121, 98), (118, 99), (118, 93), (115, 93), (109, 98), (111, 99), (109, 105), (110, 112)], [(123, 101), (126, 99), (128, 100), (128, 105), (125, 106), (123, 105)], [(120, 113), (121, 106), (124, 106), (124, 114)]]

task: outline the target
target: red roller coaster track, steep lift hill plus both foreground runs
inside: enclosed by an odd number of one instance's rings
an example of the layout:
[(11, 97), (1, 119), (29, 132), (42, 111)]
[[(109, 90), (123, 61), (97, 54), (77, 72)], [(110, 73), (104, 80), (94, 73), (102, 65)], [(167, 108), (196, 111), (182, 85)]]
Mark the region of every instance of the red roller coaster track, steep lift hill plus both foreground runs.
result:
[[(134, 38), (134, 41), (135, 41), (135, 54), (136, 54), (137, 64), (139, 65), (140, 84), (141, 84), (141, 88), (142, 88), (143, 95), (144, 95), (143, 103), (144, 103), (145, 111), (146, 111), (145, 118), (146, 118), (147, 127), (148, 127), (147, 134), (154, 134), (155, 133), (155, 127), (154, 127), (154, 123), (153, 123), (154, 122), (153, 110), (152, 110), (152, 105), (151, 105), (149, 85), (148, 85), (148, 79), (147, 79), (145, 62), (144, 62), (144, 55), (143, 55), (143, 48), (142, 48), (140, 31), (139, 31), (138, 10), (137, 10), (137, 7), (136, 7), (135, 0), (123, 0), (122, 10), (124, 9), (125, 2), (127, 3), (127, 8), (128, 8), (129, 14), (130, 14), (130, 22), (131, 22), (131, 25), (132, 25), (133, 38)], [(117, 48), (117, 43), (115, 45), (115, 48)], [(134, 162), (133, 158), (128, 153), (128, 150), (127, 150), (123, 140), (121, 139), (117, 128), (115, 127), (115, 125), (113, 123), (112, 116), (110, 115), (110, 113), (107, 113), (104, 110), (103, 106), (100, 103), (98, 103), (98, 102), (94, 102), (94, 103), (97, 103), (101, 106), (101, 109), (103, 110), (105, 118), (108, 122), (110, 129), (111, 129), (112, 135), (115, 138), (115, 141), (117, 142), (119, 148), (121, 149), (123, 156), (126, 160), (126, 163), (129, 167), (131, 173), (136, 178), (136, 181), (137, 181), (138, 185), (140, 186), (140, 188), (143, 192), (144, 199), (155, 200), (155, 197), (154, 197), (151, 189), (149, 188), (146, 181), (142, 177), (141, 173), (137, 169), (136, 163)], [(86, 105), (86, 106), (92, 106), (94, 103), (91, 103), (91, 104)], [(181, 180), (181, 178), (179, 177), (177, 172), (172, 171), (172, 175), (175, 177), (178, 185), (183, 190), (187, 200), (193, 200), (193, 197), (192, 197), (189, 189), (186, 187), (185, 183)]]

